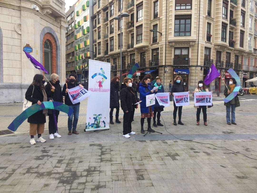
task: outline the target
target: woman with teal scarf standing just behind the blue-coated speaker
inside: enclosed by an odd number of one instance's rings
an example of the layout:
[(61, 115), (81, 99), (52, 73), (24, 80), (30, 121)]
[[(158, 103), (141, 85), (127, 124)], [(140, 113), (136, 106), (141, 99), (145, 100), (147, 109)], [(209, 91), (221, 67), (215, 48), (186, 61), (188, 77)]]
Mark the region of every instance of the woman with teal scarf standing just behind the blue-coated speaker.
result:
[[(157, 77), (155, 78), (154, 86), (158, 86), (157, 93), (164, 93), (163, 85), (161, 84), (161, 78)], [(159, 105), (159, 103), (156, 101), (153, 106), (153, 126), (163, 126), (160, 122), (161, 112), (163, 111), (164, 106)], [(157, 124), (156, 124), (156, 115), (157, 115)]]

